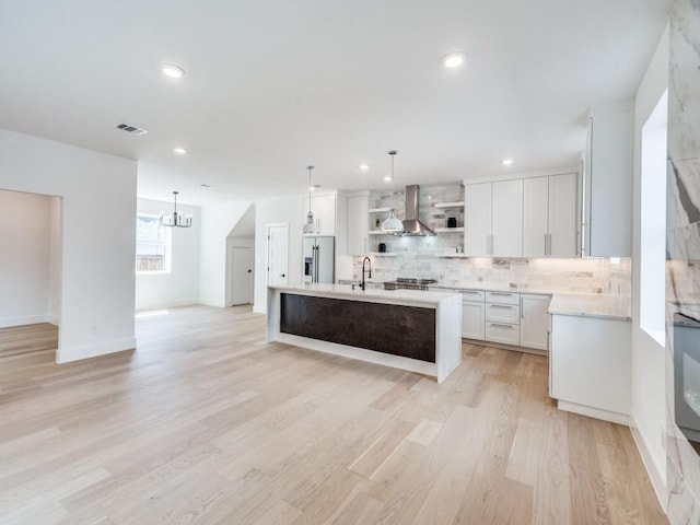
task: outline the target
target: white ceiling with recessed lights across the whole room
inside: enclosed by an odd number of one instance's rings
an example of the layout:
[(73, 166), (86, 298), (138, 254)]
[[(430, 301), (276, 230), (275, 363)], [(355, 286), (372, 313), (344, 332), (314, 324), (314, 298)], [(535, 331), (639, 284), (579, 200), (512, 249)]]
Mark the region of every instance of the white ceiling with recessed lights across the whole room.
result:
[[(0, 127), (137, 159), (139, 196), (192, 205), (302, 194), (308, 164), (325, 187), (380, 188), (390, 149), (398, 185), (575, 166), (586, 109), (634, 95), (667, 8), (0, 0)], [(466, 63), (446, 70), (453, 50)]]

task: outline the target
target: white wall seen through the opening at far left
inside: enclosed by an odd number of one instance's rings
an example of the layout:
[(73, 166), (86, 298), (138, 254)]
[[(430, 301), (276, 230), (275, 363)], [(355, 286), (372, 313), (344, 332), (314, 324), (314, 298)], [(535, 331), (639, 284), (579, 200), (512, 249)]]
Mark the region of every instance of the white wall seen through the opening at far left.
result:
[(0, 190), (0, 327), (48, 320), (51, 200)]

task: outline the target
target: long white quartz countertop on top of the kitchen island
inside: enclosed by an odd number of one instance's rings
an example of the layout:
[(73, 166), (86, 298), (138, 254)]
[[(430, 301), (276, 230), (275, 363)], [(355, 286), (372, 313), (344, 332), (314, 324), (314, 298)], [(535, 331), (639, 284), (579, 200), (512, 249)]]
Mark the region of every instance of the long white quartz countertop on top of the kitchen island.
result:
[(350, 284), (322, 284), (322, 283), (304, 283), (304, 284), (278, 284), (269, 285), (268, 288), (280, 290), (282, 292), (300, 292), (307, 295), (323, 295), (323, 296), (338, 296), (342, 299), (355, 299), (362, 300), (381, 300), (386, 302), (392, 301), (408, 301), (412, 303), (428, 303), (438, 304), (444, 299), (452, 295), (456, 295), (454, 291), (419, 291), (419, 290), (381, 290), (370, 289), (362, 290), (359, 285), (352, 287)]

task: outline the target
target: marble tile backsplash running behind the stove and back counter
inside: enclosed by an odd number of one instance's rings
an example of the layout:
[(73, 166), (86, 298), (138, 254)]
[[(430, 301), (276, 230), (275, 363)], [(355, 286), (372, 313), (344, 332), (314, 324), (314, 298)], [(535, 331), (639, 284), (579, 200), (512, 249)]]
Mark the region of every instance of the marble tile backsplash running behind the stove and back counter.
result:
[[(401, 238), (401, 237), (399, 237)], [(421, 238), (411, 242), (424, 242)], [(433, 237), (434, 238), (434, 237)], [(546, 290), (551, 292), (631, 294), (631, 260), (610, 259), (504, 259), (436, 257), (419, 249), (392, 252), (390, 256), (371, 256), (374, 281), (390, 281), (397, 277), (438, 279), (447, 287), (485, 288), (508, 285), (513, 290)], [(362, 257), (353, 258), (353, 279), (362, 275)]]

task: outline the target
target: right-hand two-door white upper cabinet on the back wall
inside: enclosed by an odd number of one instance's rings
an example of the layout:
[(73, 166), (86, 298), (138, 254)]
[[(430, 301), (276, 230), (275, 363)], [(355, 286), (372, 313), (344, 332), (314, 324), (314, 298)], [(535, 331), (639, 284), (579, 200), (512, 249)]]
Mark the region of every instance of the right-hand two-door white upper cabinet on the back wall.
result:
[(523, 256), (576, 256), (576, 174), (523, 180)]

